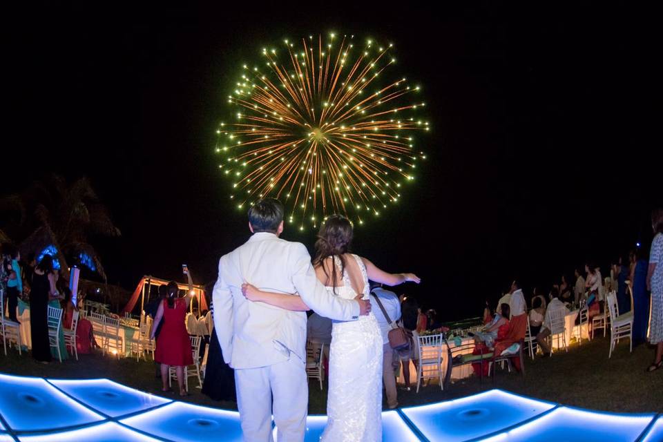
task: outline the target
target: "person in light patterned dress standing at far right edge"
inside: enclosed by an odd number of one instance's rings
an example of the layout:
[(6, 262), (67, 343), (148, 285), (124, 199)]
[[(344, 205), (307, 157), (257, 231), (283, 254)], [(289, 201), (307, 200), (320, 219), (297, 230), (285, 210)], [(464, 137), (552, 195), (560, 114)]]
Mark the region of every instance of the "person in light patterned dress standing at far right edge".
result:
[(649, 252), (647, 289), (651, 291), (651, 313), (649, 316), (648, 340), (656, 346), (654, 363), (647, 369), (653, 372), (663, 365), (663, 209), (651, 213), (651, 228), (655, 237)]

